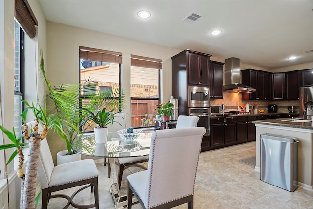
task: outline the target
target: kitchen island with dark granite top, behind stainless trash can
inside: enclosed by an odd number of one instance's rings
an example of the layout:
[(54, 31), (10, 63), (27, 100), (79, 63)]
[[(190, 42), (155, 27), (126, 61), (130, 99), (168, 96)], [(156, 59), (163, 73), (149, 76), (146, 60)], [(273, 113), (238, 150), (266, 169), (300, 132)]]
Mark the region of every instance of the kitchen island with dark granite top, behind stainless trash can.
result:
[[(287, 121), (286, 121), (287, 120)], [(289, 121), (288, 121), (289, 120)], [(261, 143), (260, 134), (277, 134), (297, 137), (298, 144), (298, 186), (313, 190), (313, 123), (294, 122), (290, 118), (253, 121), (256, 127), (256, 165), (260, 172)]]

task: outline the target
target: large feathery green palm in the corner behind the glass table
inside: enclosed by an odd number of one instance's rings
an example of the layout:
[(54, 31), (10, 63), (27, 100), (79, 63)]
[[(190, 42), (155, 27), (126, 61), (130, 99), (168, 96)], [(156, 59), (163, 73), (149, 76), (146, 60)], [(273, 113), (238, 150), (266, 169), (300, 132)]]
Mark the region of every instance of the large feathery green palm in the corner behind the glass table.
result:
[[(67, 150), (62, 150), (57, 155), (74, 155), (76, 150), (73, 144), (77, 139), (83, 136), (88, 126), (80, 126), (81, 121), (89, 115), (89, 112), (79, 108), (86, 108), (90, 111), (102, 109), (103, 107), (118, 107), (122, 109), (124, 102), (124, 93), (120, 88), (112, 89), (106, 92), (96, 92), (97, 81), (86, 80), (79, 84), (65, 84), (51, 87), (50, 81), (45, 75), (44, 59), (41, 53), (40, 70), (50, 91), (49, 97), (52, 99), (57, 113), (61, 116), (63, 133), (59, 133), (67, 145)], [(79, 159), (78, 159), (79, 160)], [(58, 163), (59, 164), (59, 163)]]

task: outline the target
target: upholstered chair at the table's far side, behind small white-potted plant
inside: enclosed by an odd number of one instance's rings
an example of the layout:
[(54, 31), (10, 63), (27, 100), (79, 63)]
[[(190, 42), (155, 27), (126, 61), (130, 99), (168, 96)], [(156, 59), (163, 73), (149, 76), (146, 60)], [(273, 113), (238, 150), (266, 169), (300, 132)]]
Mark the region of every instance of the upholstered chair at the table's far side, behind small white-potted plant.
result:
[[(108, 126), (108, 128), (109, 128), (108, 131), (113, 132), (113, 134), (116, 133), (120, 129), (126, 129), (125, 113), (115, 114), (114, 123)], [(118, 181), (119, 188), (121, 188), (122, 178), (123, 178), (123, 173), (124, 173), (125, 168), (129, 166), (133, 166), (133, 167), (135, 166), (135, 167), (140, 167), (142, 169), (147, 169), (146, 167), (138, 164), (138, 163), (144, 163), (147, 161), (148, 161), (148, 156), (118, 158), (117, 161), (115, 161), (115, 164), (118, 166), (117, 181)], [(110, 173), (111, 173), (111, 168), (110, 168), (110, 163), (108, 163), (108, 177), (109, 178), (110, 178)]]

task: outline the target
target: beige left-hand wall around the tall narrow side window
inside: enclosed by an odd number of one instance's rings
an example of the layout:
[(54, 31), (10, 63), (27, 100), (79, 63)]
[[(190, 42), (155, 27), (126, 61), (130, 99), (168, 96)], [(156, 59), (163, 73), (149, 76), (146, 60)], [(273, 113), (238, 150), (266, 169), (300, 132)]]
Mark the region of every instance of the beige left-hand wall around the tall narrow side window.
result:
[[(26, 100), (36, 102), (37, 98), (43, 102), (44, 92), (40, 93), (38, 89), (43, 89), (39, 82), (38, 66), (39, 54), (38, 49), (43, 49), (46, 54), (46, 20), (42, 12), (41, 6), (37, 0), (28, 1), (35, 16), (38, 20), (37, 35), (33, 39), (26, 38), (25, 40), (25, 71), (26, 78)], [(2, 102), (2, 117), (3, 126), (9, 130), (13, 127), (14, 116), (14, 0), (0, 0), (0, 21), (1, 34), (0, 38), (0, 79), (1, 79), (1, 102)], [(3, 27), (2, 27), (3, 26)], [(3, 30), (3, 31), (2, 31)], [(31, 120), (31, 118), (28, 118)], [(2, 134), (0, 134), (0, 141), (2, 141)], [(5, 143), (10, 143), (5, 137)], [(0, 142), (1, 144), (1, 142)], [(10, 150), (6, 150), (7, 159), (10, 157)], [(3, 160), (3, 151), (0, 151), (1, 163)], [(3, 178), (4, 169), (1, 167), (1, 177)], [(13, 171), (13, 163), (8, 165), (9, 174), (9, 188), (10, 188), (10, 208), (19, 208), (20, 202), (20, 179), (16, 177)], [(7, 209), (7, 189), (5, 188), (6, 181), (0, 180), (0, 209)]]

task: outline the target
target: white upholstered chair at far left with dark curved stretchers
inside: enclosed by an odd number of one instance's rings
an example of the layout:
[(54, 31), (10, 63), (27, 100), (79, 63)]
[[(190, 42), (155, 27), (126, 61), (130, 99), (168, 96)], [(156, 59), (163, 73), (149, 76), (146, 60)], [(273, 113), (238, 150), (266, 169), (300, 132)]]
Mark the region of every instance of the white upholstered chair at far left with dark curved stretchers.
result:
[[(35, 121), (27, 123), (29, 128), (28, 133), (31, 133), (31, 127), (35, 126)], [(24, 126), (21, 126), (24, 129)], [(42, 126), (39, 124), (38, 132), (42, 131)], [(38, 178), (42, 190), (42, 209), (46, 209), (50, 198), (61, 197), (67, 199), (67, 208), (72, 205), (75, 208), (92, 208), (99, 209), (98, 198), (98, 170), (96, 164), (92, 159), (85, 159), (75, 161), (71, 163), (64, 163), (54, 166), (52, 155), (49, 149), (49, 145), (46, 139), (41, 141), (40, 146), (40, 158), (38, 165)], [(75, 186), (86, 185), (76, 192), (71, 197), (65, 194), (54, 194), (52, 192), (60, 191)], [(87, 187), (91, 187), (91, 192), (94, 193), (94, 204), (79, 205), (73, 202), (73, 198), (76, 194)]]

